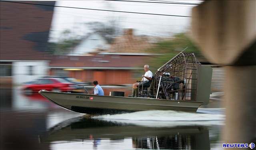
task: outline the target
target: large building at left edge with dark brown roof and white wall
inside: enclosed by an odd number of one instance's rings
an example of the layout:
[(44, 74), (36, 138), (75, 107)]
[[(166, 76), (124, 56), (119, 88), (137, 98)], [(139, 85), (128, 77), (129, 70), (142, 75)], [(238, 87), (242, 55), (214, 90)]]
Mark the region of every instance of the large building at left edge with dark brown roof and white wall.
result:
[(1, 83), (22, 83), (46, 75), (55, 2), (1, 1), (0, 4)]

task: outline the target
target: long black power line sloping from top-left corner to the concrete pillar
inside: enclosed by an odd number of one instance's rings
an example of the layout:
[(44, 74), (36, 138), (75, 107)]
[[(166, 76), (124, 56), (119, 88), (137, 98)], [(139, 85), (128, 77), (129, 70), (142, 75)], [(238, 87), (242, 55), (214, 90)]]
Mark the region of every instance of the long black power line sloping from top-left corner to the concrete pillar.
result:
[(191, 17), (191, 16), (168, 15), (168, 14), (152, 14), (152, 13), (143, 13), (143, 12), (125, 12), (125, 11), (117, 11), (117, 10), (101, 10), (101, 9), (79, 8), (79, 7), (68, 7), (68, 6), (53, 6), (53, 5), (47, 5), (47, 4), (33, 4), (33, 3), (14, 2), (14, 1), (5, 1), (5, 0), (1, 0), (1, 2), (29, 4), (29, 5), (40, 5), (40, 6), (51, 6), (51, 7), (60, 7), (60, 8), (75, 8), (75, 9), (84, 9), (84, 10), (98, 10), (98, 11), (107, 11), (107, 12), (123, 12), (123, 13), (132, 13), (132, 14), (146, 14), (146, 15), (174, 16), (174, 17)]

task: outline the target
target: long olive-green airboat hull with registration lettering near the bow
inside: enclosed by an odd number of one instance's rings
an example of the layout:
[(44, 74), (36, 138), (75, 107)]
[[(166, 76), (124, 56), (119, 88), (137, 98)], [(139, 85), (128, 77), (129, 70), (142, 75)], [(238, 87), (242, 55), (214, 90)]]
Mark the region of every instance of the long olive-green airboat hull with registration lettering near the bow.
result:
[(56, 105), (85, 114), (119, 114), (149, 110), (196, 112), (203, 103), (198, 101), (60, 93), (45, 90), (41, 90), (39, 93)]

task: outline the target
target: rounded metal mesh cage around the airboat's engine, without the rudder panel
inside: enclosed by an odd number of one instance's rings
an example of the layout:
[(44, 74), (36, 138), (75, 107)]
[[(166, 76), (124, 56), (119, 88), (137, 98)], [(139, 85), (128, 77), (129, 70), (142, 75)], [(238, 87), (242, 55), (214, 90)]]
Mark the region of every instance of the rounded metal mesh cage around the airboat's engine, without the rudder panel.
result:
[(180, 52), (155, 73), (151, 95), (159, 99), (195, 101), (200, 65), (194, 53)]

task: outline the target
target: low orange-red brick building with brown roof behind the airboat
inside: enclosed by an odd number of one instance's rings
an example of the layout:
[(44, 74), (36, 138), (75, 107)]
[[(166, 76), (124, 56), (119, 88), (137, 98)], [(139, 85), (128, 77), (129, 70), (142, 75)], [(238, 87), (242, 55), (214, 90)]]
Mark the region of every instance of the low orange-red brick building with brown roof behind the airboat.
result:
[[(101, 85), (134, 83), (136, 70), (148, 63), (148, 55), (58, 56), (50, 62), (50, 75), (64, 75), (84, 82), (98, 80)], [(140, 75), (141, 76), (141, 75)]]

